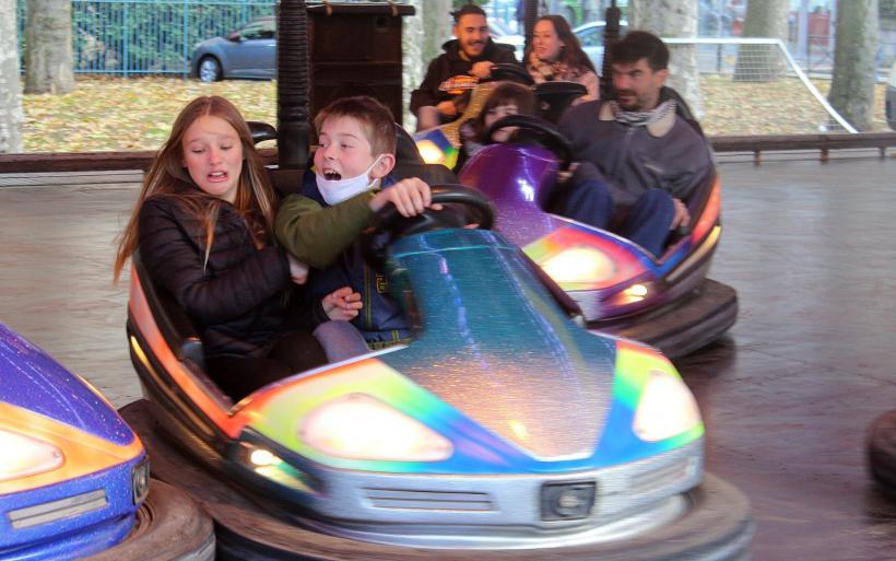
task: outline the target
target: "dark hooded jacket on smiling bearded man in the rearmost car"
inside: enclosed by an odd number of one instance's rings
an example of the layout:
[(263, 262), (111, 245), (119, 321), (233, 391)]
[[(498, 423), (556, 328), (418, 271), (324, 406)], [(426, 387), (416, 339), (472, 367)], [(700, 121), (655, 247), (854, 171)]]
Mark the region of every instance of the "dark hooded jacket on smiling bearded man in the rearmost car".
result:
[(459, 75), (469, 74), (473, 68), (474, 62), (488, 60), (495, 65), (512, 63), (519, 65), (514, 47), (495, 43), (488, 39), (488, 44), (483, 49), (482, 55), (467, 60), (461, 57), (460, 42), (451, 39), (441, 46), (445, 50), (441, 55), (429, 62), (429, 68), (426, 70), (426, 77), (420, 87), (411, 92), (411, 112), (416, 115), (417, 110), (426, 105), (438, 105), (440, 102), (451, 100), (453, 94), (439, 90), (439, 85), (447, 79)]

